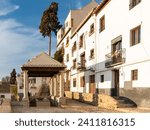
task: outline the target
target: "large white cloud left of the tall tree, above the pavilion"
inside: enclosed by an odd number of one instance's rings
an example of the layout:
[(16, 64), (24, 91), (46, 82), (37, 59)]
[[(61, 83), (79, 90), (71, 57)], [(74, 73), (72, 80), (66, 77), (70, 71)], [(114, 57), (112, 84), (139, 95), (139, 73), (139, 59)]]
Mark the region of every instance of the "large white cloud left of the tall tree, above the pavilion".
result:
[[(14, 19), (0, 20), (0, 32), (0, 78), (9, 75), (13, 68), (19, 71), (28, 59), (47, 51), (47, 38)], [(53, 46), (55, 43), (56, 40), (53, 40)]]

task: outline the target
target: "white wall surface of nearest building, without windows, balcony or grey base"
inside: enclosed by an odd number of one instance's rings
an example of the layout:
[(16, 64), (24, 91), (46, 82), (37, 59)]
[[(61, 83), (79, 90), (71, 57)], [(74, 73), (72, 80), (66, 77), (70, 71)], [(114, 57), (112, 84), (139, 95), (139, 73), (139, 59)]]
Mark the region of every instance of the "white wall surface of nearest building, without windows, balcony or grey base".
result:
[[(97, 14), (97, 26), (100, 28), (99, 20), (105, 16), (105, 30), (97, 33), (97, 84), (101, 86), (114, 87), (111, 83), (113, 75), (112, 70), (118, 68), (120, 71), (120, 87), (124, 87), (124, 82), (131, 81), (131, 71), (138, 69), (138, 80), (133, 81), (132, 87), (150, 87), (150, 81), (145, 75), (148, 75), (150, 69), (150, 49), (149, 45), (149, 22), (146, 17), (146, 10), (149, 10), (149, 2), (142, 0), (138, 5), (129, 10), (128, 0), (111, 0), (105, 8)], [(130, 46), (130, 30), (141, 26), (141, 42), (137, 45)], [(125, 63), (114, 66), (110, 69), (105, 68), (106, 54), (112, 52), (111, 41), (118, 36), (122, 36), (122, 49), (125, 49)], [(147, 68), (147, 69), (146, 69)], [(109, 72), (108, 72), (109, 71)], [(105, 73), (106, 72), (106, 73)], [(104, 74), (106, 83), (99, 83), (99, 75)], [(110, 74), (112, 73), (112, 74)], [(105, 85), (104, 85), (105, 84)]]

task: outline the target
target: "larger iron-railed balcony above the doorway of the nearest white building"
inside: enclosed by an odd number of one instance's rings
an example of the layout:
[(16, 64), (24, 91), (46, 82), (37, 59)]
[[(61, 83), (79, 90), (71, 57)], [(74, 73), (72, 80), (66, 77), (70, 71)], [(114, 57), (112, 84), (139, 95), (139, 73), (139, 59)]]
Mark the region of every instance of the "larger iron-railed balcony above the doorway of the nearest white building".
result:
[(125, 63), (125, 49), (120, 49), (106, 55), (105, 67), (110, 68)]

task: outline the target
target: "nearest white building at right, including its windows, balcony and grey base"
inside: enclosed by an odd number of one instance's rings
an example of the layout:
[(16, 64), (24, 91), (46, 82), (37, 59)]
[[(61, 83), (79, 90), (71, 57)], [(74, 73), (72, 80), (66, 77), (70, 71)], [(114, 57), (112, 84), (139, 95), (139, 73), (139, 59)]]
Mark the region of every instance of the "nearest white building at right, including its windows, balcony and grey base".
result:
[(96, 85), (100, 93), (150, 106), (147, 0), (103, 0), (96, 9)]

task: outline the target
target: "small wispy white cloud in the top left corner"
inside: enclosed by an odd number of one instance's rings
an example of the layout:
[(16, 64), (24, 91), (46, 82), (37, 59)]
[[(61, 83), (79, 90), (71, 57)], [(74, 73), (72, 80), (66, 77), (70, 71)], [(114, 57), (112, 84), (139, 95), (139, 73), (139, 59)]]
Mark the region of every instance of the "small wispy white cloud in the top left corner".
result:
[(11, 4), (10, 0), (0, 0), (0, 16), (7, 15), (17, 9), (19, 6)]

